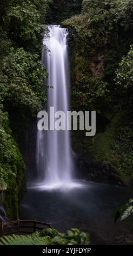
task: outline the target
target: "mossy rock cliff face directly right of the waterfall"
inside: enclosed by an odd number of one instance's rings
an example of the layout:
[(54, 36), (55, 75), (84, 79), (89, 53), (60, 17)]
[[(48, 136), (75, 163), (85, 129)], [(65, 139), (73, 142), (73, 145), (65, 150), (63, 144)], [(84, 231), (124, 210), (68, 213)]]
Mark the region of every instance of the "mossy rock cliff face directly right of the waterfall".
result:
[(97, 113), (95, 137), (87, 138), (82, 131), (71, 132), (78, 174), (96, 182), (130, 186), (131, 168), (122, 163), (119, 154), (122, 151), (121, 145), (116, 139), (119, 136), (117, 133), (122, 122), (122, 113), (114, 114), (114, 106), (111, 113), (108, 104), (109, 83), (105, 78), (105, 69), (110, 50), (107, 43), (99, 50), (96, 45), (87, 45), (84, 35), (80, 35), (73, 24), (69, 25), (69, 20), (63, 26), (68, 26), (69, 29), (71, 109)]

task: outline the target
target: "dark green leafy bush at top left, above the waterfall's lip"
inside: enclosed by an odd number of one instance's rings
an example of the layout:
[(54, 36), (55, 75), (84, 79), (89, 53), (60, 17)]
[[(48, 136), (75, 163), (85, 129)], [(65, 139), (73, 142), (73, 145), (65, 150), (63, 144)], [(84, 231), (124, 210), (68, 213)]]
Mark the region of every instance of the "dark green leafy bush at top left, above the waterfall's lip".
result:
[[(13, 39), (32, 41), (38, 44), (37, 36), (41, 34), (43, 26), (40, 24), (41, 15), (31, 1), (23, 1), (8, 12), (10, 33)], [(30, 43), (30, 42), (29, 42)]]

